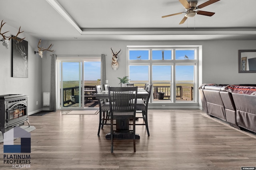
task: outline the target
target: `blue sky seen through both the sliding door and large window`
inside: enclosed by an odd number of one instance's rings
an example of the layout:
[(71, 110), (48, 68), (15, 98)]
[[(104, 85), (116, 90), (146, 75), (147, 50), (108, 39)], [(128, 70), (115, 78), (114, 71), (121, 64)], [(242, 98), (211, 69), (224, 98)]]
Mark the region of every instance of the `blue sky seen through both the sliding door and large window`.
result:
[[(164, 57), (163, 53), (164, 51)], [(148, 50), (131, 50), (129, 51), (130, 60), (148, 60)], [(188, 59), (194, 59), (194, 50), (176, 50), (176, 60), (184, 60), (185, 55)], [(152, 60), (171, 60), (172, 50), (152, 50)], [(170, 61), (171, 62), (171, 61)], [(159, 62), (156, 62), (159, 63)], [(153, 65), (152, 66), (152, 80), (162, 81), (171, 80), (170, 65)], [(130, 66), (130, 80), (143, 80), (148, 82), (149, 66)], [(77, 81), (79, 80), (79, 62), (63, 62), (63, 81)], [(84, 62), (84, 80), (100, 79), (100, 61)], [(194, 80), (194, 66), (176, 66), (176, 81)]]

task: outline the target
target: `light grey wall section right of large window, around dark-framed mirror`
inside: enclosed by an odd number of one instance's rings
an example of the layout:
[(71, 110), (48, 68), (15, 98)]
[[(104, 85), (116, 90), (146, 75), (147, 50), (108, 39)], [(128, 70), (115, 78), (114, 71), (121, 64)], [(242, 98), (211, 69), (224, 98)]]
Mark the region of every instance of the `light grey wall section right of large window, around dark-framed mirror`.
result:
[(256, 41), (203, 43), (203, 83), (256, 84), (256, 73), (238, 73), (238, 50), (255, 49)]

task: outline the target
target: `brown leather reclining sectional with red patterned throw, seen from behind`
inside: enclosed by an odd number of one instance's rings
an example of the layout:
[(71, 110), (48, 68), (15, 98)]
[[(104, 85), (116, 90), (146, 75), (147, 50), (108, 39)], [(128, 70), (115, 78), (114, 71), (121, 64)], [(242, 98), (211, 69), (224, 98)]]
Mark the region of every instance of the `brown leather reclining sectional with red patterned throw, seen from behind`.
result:
[(256, 84), (202, 84), (199, 95), (206, 114), (256, 133)]

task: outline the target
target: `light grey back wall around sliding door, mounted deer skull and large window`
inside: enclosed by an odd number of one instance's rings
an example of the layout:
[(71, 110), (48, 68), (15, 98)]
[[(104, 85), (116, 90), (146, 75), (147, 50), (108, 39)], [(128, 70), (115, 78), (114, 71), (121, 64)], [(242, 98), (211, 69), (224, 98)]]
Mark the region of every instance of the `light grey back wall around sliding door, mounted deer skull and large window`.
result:
[[(50, 41), (43, 42), (44, 47), (53, 43), (56, 55), (100, 55), (106, 54), (106, 80), (110, 86), (118, 86), (117, 77), (126, 75), (127, 45), (202, 45), (202, 83), (215, 84), (256, 84), (256, 73), (238, 73), (238, 50), (255, 49), (256, 41)], [(119, 51), (117, 71), (111, 68), (111, 48)], [(50, 53), (43, 58), (43, 91), (50, 91)], [(161, 106), (151, 104), (150, 106)], [(172, 106), (169, 104), (168, 106)], [(184, 104), (176, 104), (184, 108)], [(193, 108), (198, 104), (188, 103)], [(156, 107), (155, 107), (156, 108)], [(175, 107), (173, 107), (175, 108)]]

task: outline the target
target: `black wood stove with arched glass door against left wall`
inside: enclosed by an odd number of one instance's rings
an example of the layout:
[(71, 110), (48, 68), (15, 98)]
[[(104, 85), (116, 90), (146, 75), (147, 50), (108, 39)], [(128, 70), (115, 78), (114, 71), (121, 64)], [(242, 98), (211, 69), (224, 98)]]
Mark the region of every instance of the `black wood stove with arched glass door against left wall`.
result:
[(0, 130), (4, 134), (12, 127), (28, 121), (28, 96), (24, 94), (0, 95)]

